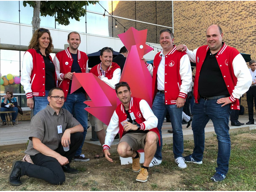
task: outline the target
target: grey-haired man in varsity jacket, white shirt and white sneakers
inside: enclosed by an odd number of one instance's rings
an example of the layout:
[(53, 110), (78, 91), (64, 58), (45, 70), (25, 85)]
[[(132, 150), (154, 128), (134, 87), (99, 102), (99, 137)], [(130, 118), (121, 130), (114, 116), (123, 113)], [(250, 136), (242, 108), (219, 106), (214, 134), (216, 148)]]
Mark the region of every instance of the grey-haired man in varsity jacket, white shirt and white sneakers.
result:
[(181, 169), (187, 167), (182, 158), (183, 132), (182, 107), (184, 106), (189, 86), (192, 82), (192, 71), (188, 55), (179, 52), (174, 45), (174, 36), (171, 30), (160, 31), (160, 45), (162, 51), (154, 58), (153, 67), (144, 62), (153, 76), (153, 105), (152, 110), (158, 118), (157, 128), (160, 132), (161, 146), (150, 163), (150, 167), (162, 163), (162, 125), (167, 112), (173, 128), (173, 154), (174, 161)]

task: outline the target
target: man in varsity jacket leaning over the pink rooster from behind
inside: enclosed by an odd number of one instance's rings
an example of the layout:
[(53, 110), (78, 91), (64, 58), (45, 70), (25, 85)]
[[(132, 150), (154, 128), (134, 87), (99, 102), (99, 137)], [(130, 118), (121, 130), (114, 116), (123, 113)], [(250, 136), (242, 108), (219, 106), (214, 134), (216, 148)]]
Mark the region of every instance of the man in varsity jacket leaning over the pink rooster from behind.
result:
[[(115, 84), (120, 81), (121, 69), (117, 63), (113, 63), (113, 49), (111, 47), (105, 47), (101, 49), (99, 56), (101, 63), (91, 68), (90, 73), (93, 73), (103, 82), (108, 84), (112, 89), (115, 89)], [(106, 133), (103, 129), (103, 122), (93, 115), (90, 116), (90, 123), (95, 127), (95, 132), (99, 138), (101, 145), (104, 144)], [(95, 155), (95, 158), (104, 157), (104, 154), (100, 152)]]

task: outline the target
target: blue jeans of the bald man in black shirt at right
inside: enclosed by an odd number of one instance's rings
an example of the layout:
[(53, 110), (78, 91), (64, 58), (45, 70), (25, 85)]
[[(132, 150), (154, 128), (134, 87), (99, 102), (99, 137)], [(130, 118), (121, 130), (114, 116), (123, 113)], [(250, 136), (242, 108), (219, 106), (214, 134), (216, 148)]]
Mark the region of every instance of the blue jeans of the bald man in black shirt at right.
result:
[(192, 131), (194, 136), (195, 148), (193, 158), (202, 161), (204, 153), (204, 128), (211, 119), (214, 131), (218, 139), (218, 157), (216, 171), (227, 173), (229, 169), (229, 157), (231, 142), (229, 137), (229, 116), (231, 113), (230, 104), (217, 103), (218, 99), (204, 100), (199, 99), (199, 103), (193, 105)]

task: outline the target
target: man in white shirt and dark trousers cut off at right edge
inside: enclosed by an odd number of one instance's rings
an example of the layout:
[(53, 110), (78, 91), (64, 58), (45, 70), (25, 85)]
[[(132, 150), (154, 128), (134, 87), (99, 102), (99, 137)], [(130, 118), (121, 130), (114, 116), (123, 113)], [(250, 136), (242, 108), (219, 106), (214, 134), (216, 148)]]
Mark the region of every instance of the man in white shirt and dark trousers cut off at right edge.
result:
[[(246, 123), (246, 125), (252, 125), (254, 124), (254, 118), (253, 118), (253, 106), (256, 106), (256, 61), (251, 60), (249, 62), (249, 69), (251, 76), (252, 76), (252, 84), (249, 90), (246, 92), (246, 100), (248, 105), (248, 114), (249, 114), (249, 121)], [(253, 105), (254, 101), (254, 105)]]

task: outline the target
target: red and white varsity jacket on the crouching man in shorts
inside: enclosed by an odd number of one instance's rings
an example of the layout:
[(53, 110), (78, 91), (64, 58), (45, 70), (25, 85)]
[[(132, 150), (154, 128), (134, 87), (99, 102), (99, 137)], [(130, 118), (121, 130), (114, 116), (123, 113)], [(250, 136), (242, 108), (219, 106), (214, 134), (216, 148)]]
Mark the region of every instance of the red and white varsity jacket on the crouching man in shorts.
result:
[[(141, 126), (140, 130), (149, 130), (157, 133), (160, 144), (160, 133), (156, 128), (158, 119), (152, 112), (147, 101), (145, 101), (144, 99), (132, 97), (129, 104), (129, 113), (132, 112), (136, 118), (136, 122), (139, 123)], [(120, 139), (122, 138), (124, 128), (120, 122), (123, 122), (126, 119), (127, 114), (125, 113), (124, 105), (121, 103), (117, 106), (111, 117), (109, 126), (107, 128), (105, 144), (103, 144), (103, 150), (110, 148), (111, 144), (113, 143), (114, 137), (116, 136), (118, 131), (120, 132)]]

